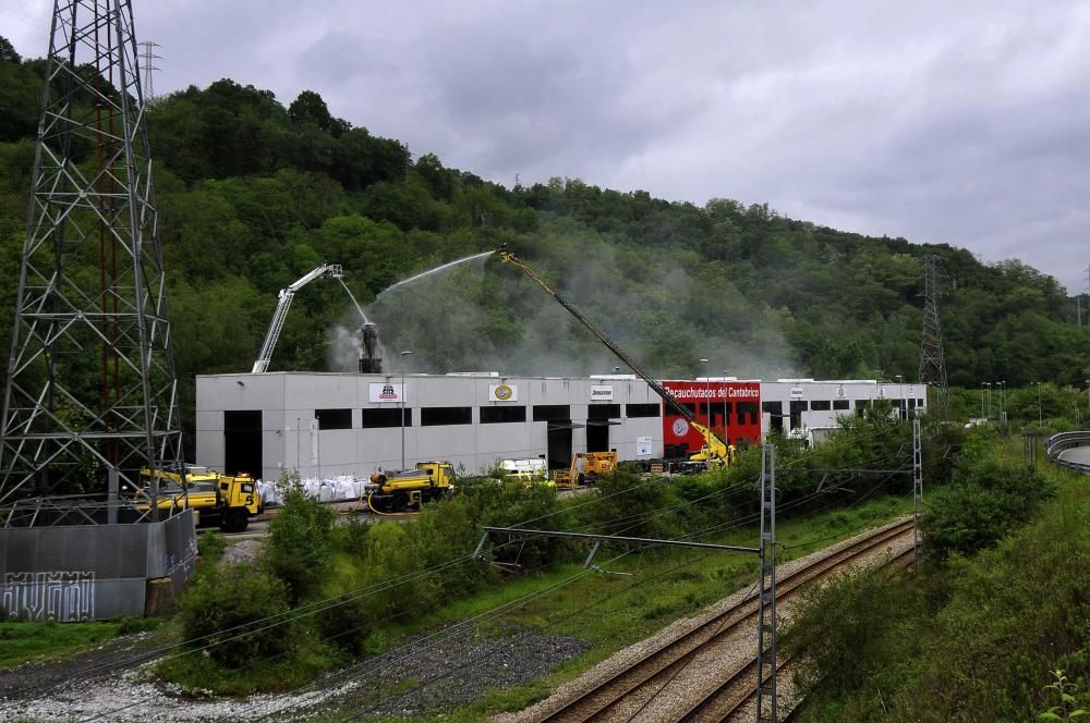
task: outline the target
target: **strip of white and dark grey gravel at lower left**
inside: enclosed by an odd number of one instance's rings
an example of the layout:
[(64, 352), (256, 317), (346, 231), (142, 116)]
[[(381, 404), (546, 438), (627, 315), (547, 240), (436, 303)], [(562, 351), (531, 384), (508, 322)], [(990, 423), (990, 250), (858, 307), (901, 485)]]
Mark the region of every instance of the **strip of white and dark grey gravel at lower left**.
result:
[[(412, 655), (364, 661), (353, 666), (351, 674), (328, 675), (296, 694), (201, 697), (156, 681), (140, 669), (95, 681), (78, 676), (32, 689), (32, 684), (56, 681), (65, 672), (78, 675), (106, 662), (100, 652), (118, 660), (132, 655), (132, 651), (125, 655), (100, 649), (71, 663), (5, 671), (0, 678), (0, 721), (147, 721), (153, 716), (149, 711), (164, 710), (170, 711), (171, 721), (249, 720), (267, 714), (287, 721), (305, 720), (317, 710), (341, 706), (378, 714), (419, 715), (472, 702), (488, 688), (541, 677), (589, 647), (582, 640), (524, 628), (508, 628), (489, 637), (459, 630), (449, 637), (435, 635), (420, 646), (412, 648)], [(11, 682), (22, 684), (15, 689)]]

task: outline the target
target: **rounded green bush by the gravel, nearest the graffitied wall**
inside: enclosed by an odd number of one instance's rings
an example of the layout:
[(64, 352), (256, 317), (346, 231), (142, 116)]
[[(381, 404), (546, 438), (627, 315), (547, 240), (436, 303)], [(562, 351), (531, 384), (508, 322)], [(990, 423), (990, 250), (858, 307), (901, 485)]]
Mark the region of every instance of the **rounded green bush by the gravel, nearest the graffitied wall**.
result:
[(290, 649), (287, 625), (261, 622), (289, 609), (282, 581), (251, 565), (223, 565), (190, 583), (179, 621), (186, 641), (207, 647), (213, 661), (237, 669)]

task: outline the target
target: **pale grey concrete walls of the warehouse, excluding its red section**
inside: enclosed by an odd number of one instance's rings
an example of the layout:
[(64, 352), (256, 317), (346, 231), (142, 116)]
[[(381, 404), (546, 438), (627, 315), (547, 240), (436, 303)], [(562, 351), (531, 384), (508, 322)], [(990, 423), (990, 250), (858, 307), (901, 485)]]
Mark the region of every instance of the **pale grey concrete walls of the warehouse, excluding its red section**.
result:
[[(637, 439), (650, 437), (650, 456), (663, 455), (662, 417), (627, 418), (627, 404), (661, 405), (659, 397), (643, 381), (618, 375), (603, 378), (468, 377), (409, 375), (404, 377), (404, 407), (412, 424), (404, 428), (407, 466), (439, 459), (462, 465), (467, 473), (484, 471), (501, 458), (534, 458), (546, 453), (548, 424), (533, 420), (535, 405), (570, 406), (570, 418), (585, 425), (590, 408), (597, 404), (619, 404), (618, 425), (609, 426), (609, 446), (621, 461), (637, 459)], [(196, 462), (214, 469), (225, 467), (223, 413), (262, 410), (262, 471), (276, 479), (282, 469), (298, 468), (303, 477), (370, 476), (377, 469), (401, 468), (402, 430), (361, 426), (362, 409), (385, 408), (392, 414), (400, 401), (372, 402), (371, 384), (400, 388), (400, 375), (271, 372), (264, 375), (209, 375), (197, 377)], [(517, 399), (496, 401), (489, 390), (506, 384)], [(592, 387), (610, 388), (609, 400), (592, 401)], [(780, 401), (787, 413), (792, 399), (847, 400), (853, 414), (857, 400), (891, 396), (895, 384), (870, 380), (812, 381), (782, 380), (761, 383), (761, 401)], [(799, 391), (801, 390), (801, 391)], [(925, 396), (919, 385), (904, 385), (905, 394)], [(801, 394), (801, 396), (799, 396)], [(421, 426), (422, 407), (470, 407), (472, 424)], [(481, 409), (489, 406), (521, 406), (526, 421), (481, 424)], [(316, 409), (350, 409), (350, 429), (315, 429)], [(396, 418), (396, 416), (395, 416)], [(808, 427), (836, 424), (836, 412), (808, 410)], [(768, 414), (762, 429), (770, 428)], [(785, 424), (785, 428), (787, 425)], [(572, 452), (586, 450), (586, 429), (572, 430)], [(644, 457), (649, 455), (643, 455)]]

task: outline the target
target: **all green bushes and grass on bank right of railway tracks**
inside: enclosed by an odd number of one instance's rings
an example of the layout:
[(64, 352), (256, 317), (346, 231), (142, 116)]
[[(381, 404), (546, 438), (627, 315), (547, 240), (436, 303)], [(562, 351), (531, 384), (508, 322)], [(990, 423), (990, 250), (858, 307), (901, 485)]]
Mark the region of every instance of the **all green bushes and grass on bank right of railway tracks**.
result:
[(929, 497), (920, 574), (808, 598), (787, 639), (808, 661), (800, 721), (1065, 720), (1090, 702), (1090, 491), (994, 455)]

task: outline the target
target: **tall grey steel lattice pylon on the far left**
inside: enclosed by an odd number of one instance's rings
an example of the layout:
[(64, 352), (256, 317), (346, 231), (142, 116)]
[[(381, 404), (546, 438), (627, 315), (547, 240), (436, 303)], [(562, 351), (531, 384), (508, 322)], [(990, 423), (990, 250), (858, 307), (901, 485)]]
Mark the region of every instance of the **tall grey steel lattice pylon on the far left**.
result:
[[(152, 158), (129, 0), (55, 0), (0, 421), (0, 503), (178, 464)], [(124, 489), (124, 488), (122, 488)]]

